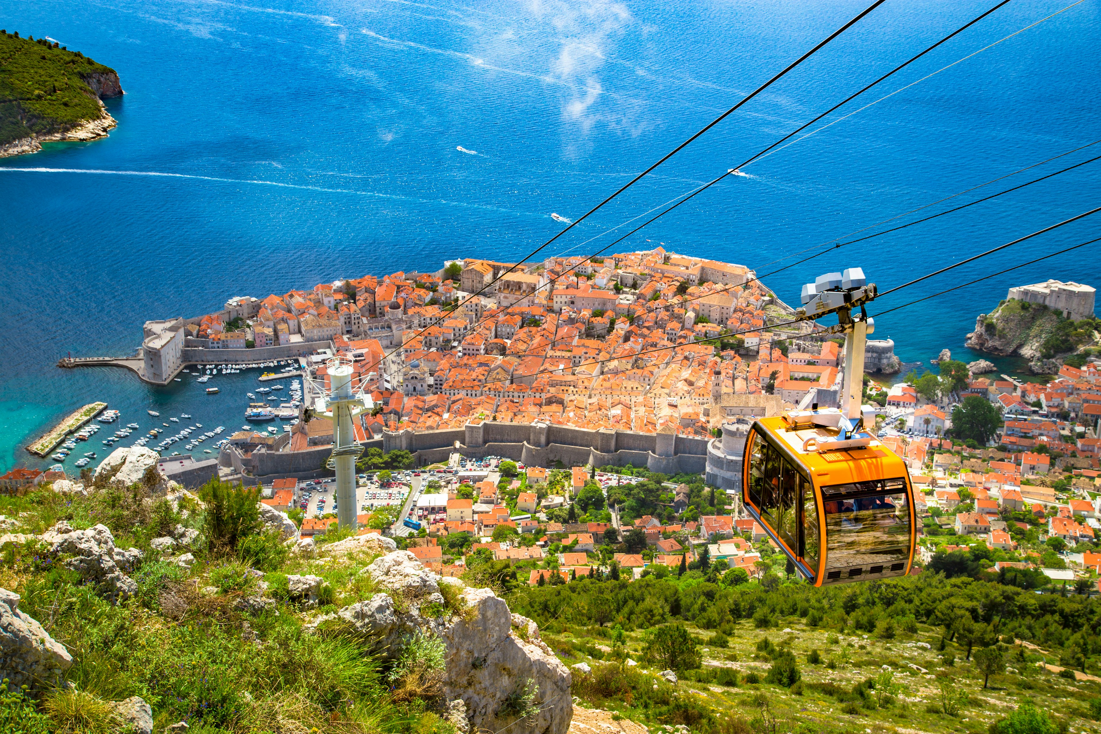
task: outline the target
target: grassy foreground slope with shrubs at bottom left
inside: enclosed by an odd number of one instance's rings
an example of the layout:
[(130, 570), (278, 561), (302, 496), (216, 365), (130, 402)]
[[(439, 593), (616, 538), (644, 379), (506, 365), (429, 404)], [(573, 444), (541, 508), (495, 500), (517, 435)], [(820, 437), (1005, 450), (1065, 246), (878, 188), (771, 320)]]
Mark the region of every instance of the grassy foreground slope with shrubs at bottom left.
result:
[[(456, 734), (438, 715), (436, 668), (406, 675), (377, 659), (361, 638), (304, 628), (320, 613), (371, 598), (374, 583), (359, 571), (374, 556), (288, 555), (277, 534), (258, 528), (249, 510), (255, 495), (235, 500), (239, 494), (212, 513), (195, 502), (176, 508), (154, 501), (138, 484), (97, 483), (88, 497), (48, 487), (0, 495), (0, 515), (9, 518), (0, 521), (0, 536), (41, 533), (59, 519), (75, 529), (103, 523), (119, 547), (144, 552), (123, 569), (137, 593), (111, 604), (96, 583), (65, 568), (64, 555), (35, 538), (9, 536), (0, 544), (0, 587), (20, 594), (20, 611), (41, 621), (74, 659), (68, 689), (0, 691), (0, 732), (118, 732), (109, 702), (140, 695), (152, 706), (157, 734), (178, 721), (194, 734)], [(190, 568), (151, 547), (177, 525), (200, 532)], [(338, 537), (324, 538), (319, 555)], [(316, 604), (292, 598), (291, 573), (324, 579)], [(274, 603), (242, 605), (262, 595)]]

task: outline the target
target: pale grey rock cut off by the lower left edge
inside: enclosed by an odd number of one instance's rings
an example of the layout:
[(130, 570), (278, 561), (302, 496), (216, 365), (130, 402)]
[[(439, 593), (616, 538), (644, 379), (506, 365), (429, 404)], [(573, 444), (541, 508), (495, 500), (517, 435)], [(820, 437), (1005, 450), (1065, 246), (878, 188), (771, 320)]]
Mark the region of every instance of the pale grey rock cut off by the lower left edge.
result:
[(0, 679), (12, 686), (54, 684), (73, 657), (42, 625), (19, 611), (19, 594), (0, 589)]

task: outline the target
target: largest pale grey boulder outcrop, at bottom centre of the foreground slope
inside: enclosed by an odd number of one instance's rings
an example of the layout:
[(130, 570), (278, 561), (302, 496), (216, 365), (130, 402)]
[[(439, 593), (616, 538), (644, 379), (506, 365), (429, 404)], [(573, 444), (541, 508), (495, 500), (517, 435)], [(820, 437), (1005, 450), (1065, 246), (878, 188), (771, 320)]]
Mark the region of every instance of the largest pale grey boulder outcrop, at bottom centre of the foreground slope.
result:
[[(443, 684), (448, 710), (461, 700), (464, 721), (471, 731), (511, 727), (524, 734), (566, 734), (573, 711), (570, 673), (539, 639), (534, 622), (510, 613), (504, 600), (490, 589), (470, 589), (458, 579), (439, 578), (406, 550), (377, 559), (363, 572), (386, 591), (319, 618), (315, 625), (344, 621), (378, 640), (386, 657), (396, 657), (402, 640), (416, 629), (434, 634), (447, 647)], [(453, 599), (464, 607), (461, 612), (424, 613), (433, 602), (443, 602), (440, 584), (455, 588)], [(517, 720), (503, 704), (525, 690), (534, 691), (537, 711)]]

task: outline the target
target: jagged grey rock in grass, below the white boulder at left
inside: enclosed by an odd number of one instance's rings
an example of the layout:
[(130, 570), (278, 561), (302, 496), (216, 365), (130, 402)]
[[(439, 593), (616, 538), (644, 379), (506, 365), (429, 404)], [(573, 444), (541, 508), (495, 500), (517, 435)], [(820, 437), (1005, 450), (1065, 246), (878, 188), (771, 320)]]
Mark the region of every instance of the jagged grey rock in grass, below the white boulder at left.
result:
[(74, 530), (62, 521), (42, 535), (42, 541), (52, 554), (72, 556), (63, 561), (65, 568), (96, 584), (97, 593), (111, 603), (138, 593), (138, 584), (124, 571), (133, 569), (142, 554), (137, 548), (116, 548), (106, 525)]

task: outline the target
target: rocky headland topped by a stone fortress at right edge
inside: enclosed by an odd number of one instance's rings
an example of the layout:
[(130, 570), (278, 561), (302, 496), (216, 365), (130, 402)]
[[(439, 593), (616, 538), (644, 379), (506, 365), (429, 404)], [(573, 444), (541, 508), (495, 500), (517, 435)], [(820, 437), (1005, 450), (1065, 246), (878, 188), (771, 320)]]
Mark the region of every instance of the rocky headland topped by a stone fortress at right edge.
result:
[(1064, 363), (1081, 366), (1098, 349), (1094, 289), (1047, 281), (1010, 288), (990, 314), (980, 314), (967, 346), (1001, 357), (1023, 357), (1035, 374), (1054, 374)]

